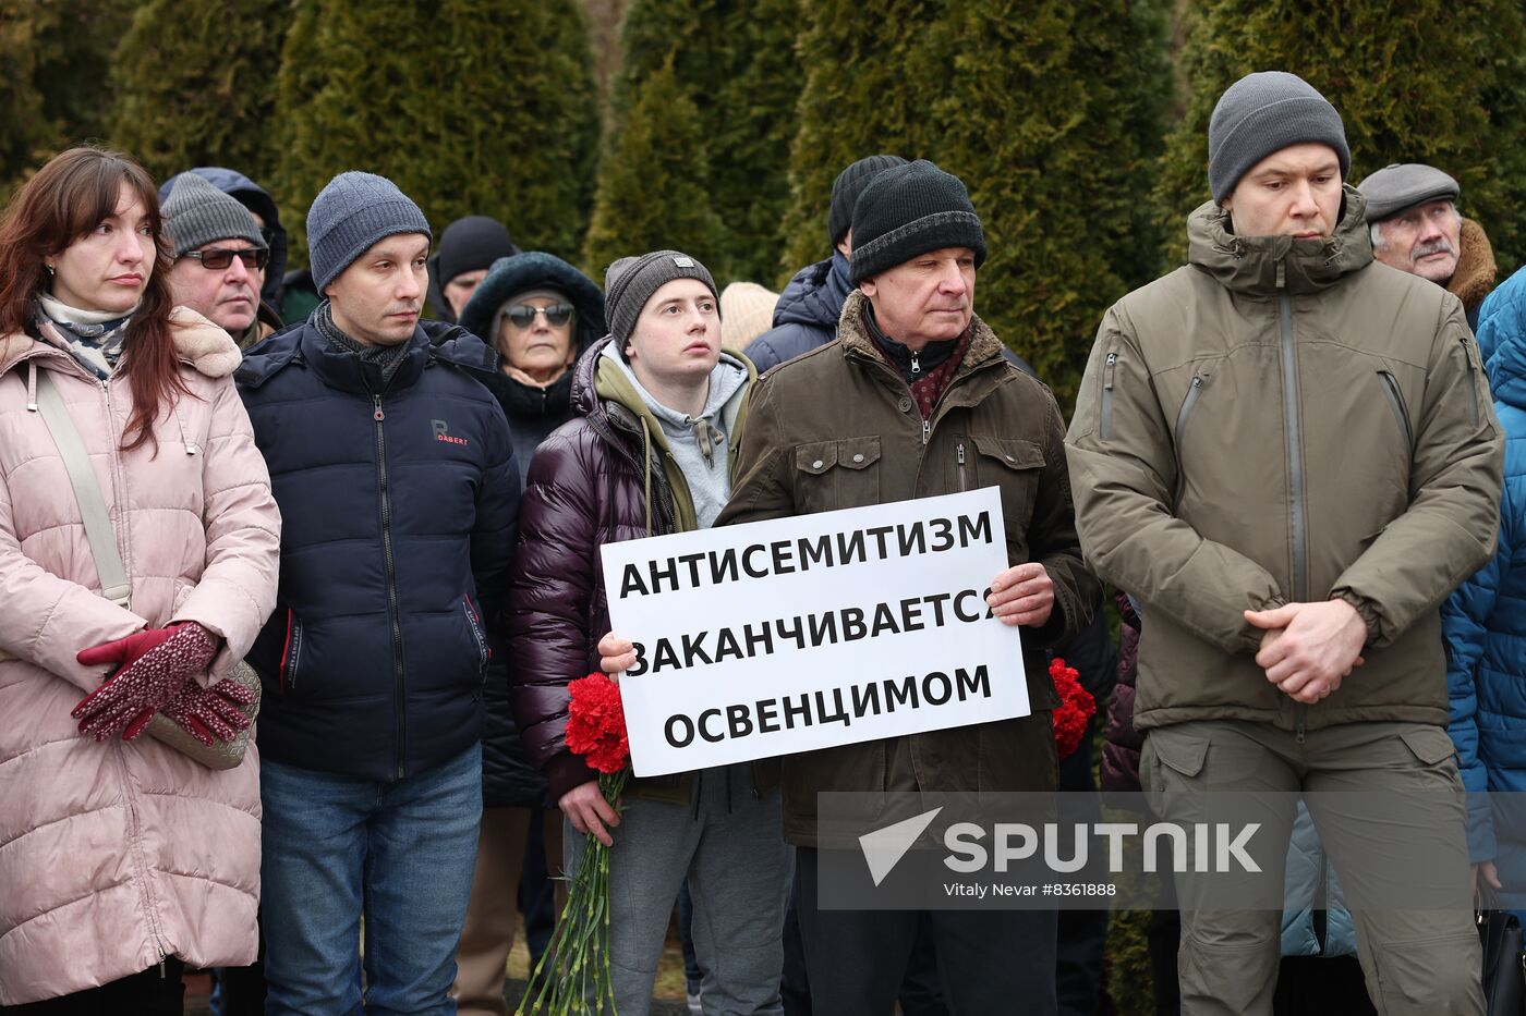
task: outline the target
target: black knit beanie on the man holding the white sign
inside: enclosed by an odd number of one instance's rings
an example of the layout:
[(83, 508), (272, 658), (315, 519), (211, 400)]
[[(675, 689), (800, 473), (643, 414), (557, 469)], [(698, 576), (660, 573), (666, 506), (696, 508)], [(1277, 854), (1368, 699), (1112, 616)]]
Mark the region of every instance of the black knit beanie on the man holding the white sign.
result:
[(884, 169), (853, 209), (855, 285), (920, 253), (969, 247), (986, 261), (986, 233), (964, 182), (926, 159)]

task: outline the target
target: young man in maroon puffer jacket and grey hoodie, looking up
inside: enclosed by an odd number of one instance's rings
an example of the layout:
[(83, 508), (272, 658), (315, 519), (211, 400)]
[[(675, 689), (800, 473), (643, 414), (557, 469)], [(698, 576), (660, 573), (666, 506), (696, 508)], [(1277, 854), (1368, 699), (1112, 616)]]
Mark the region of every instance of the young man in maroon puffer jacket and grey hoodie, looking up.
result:
[(789, 851), (777, 766), (714, 766), (635, 780), (623, 812), (566, 748), (568, 682), (597, 667), (609, 629), (601, 548), (708, 528), (731, 493), (757, 372), (720, 348), (720, 301), (703, 264), (676, 250), (606, 273), (610, 334), (574, 368), (577, 418), (540, 445), (520, 508), (507, 625), (514, 712), (572, 831), (609, 854), (610, 978), (621, 1016), (652, 1005), (679, 888), (694, 899), (707, 1011), (777, 1016)]

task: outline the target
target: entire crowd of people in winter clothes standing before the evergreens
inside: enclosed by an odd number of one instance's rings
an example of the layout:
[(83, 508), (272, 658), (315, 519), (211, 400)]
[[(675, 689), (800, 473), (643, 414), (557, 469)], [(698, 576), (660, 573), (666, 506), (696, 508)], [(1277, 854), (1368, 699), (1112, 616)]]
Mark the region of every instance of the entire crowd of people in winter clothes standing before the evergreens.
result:
[[(290, 273), (233, 169), (156, 186), (85, 146), (27, 180), (0, 221), (0, 1011), (180, 1013), (209, 969), (224, 1016), (507, 1013), (520, 914), (540, 955), (592, 838), (623, 1016), (674, 906), (694, 1013), (1094, 1013), (1103, 911), (818, 891), (819, 793), (1096, 789), (1090, 751), (1056, 758), (1054, 653), (1111, 691), (1102, 786), (1164, 818), (1526, 786), (1526, 273), (1494, 287), (1457, 182), (1351, 186), (1325, 96), (1241, 79), (1187, 264), (1106, 311), (1067, 423), (975, 313), (980, 212), (926, 154), (844, 168), (777, 296), (703, 252), (595, 281), (481, 215), (436, 243), (353, 169)], [(604, 799), (565, 737), (569, 682), (641, 636), (610, 632), (603, 545), (975, 488), (1032, 714)], [(1509, 892), (1520, 833), (1459, 796), (1384, 844)], [(1370, 834), (1289, 802), (1280, 915), (1167, 886), (1157, 1011), (1482, 1016), (1470, 909), (1341, 906)]]

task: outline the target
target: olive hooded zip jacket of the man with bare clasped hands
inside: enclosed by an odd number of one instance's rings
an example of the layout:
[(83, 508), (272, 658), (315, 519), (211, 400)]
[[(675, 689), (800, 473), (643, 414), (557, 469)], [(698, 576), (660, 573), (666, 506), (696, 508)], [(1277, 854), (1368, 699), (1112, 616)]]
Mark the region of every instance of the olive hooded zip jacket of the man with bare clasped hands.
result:
[[(1143, 604), (1141, 729), (1447, 723), (1437, 604), (1492, 552), (1503, 441), (1457, 297), (1375, 262), (1363, 209), (1293, 240), (1204, 204), (1102, 320), (1067, 452), (1087, 561)], [(1300, 706), (1242, 612), (1335, 596), (1366, 665)]]

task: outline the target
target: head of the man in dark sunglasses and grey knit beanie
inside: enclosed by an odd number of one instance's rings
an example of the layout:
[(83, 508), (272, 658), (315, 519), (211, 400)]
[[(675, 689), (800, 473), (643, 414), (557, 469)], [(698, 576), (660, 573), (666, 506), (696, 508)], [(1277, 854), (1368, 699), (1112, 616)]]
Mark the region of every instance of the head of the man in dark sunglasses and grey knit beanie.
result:
[(255, 217), (237, 198), (194, 172), (174, 182), (162, 207), (174, 244), (169, 288), (247, 349), (279, 322), (261, 320), (259, 287), (270, 247)]

